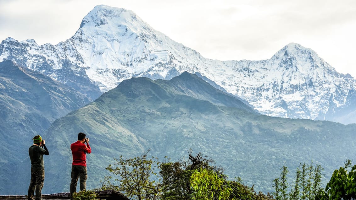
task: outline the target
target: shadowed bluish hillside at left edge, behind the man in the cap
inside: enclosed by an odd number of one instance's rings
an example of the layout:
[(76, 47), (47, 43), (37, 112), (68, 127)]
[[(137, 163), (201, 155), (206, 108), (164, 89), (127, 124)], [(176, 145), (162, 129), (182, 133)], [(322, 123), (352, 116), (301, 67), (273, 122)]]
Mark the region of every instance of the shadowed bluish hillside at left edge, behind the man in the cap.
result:
[(0, 62), (0, 194), (25, 194), (19, 190), (30, 184), (31, 162), (24, 159), (33, 136), (43, 135), (54, 120), (90, 101), (49, 76), (12, 61)]

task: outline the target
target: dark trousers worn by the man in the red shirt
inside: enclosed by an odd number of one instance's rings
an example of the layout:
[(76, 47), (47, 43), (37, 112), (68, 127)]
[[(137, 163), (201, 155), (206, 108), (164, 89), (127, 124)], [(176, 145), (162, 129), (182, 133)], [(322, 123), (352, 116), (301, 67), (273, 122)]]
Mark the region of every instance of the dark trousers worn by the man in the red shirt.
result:
[(70, 182), (70, 198), (72, 194), (77, 191), (78, 178), (80, 182), (80, 191), (85, 190), (87, 186), (87, 167), (80, 165), (72, 165), (72, 175), (70, 176), (72, 181)]

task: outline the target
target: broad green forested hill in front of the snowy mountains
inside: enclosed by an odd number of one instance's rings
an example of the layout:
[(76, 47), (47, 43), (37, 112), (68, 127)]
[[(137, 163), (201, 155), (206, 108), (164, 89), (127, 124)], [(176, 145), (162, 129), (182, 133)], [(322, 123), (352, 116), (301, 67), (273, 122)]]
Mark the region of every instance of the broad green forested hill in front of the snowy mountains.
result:
[[(189, 83), (189, 84), (186, 84)], [(187, 150), (202, 152), (256, 190), (272, 190), (283, 162), (319, 163), (329, 178), (356, 150), (355, 124), (267, 117), (195, 75), (166, 80), (132, 78), (51, 125), (45, 135), (53, 152), (45, 160), (44, 193), (69, 191), (70, 144), (82, 131), (93, 149), (88, 189), (99, 187), (113, 157), (141, 155), (147, 149), (173, 161)], [(25, 188), (27, 190), (27, 188)]]

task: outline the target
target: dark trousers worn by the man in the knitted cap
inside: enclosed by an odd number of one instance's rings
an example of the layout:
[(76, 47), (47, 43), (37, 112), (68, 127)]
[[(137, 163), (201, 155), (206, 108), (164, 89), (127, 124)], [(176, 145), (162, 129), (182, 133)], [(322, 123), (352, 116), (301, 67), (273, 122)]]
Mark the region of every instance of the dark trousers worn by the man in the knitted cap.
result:
[(28, 187), (28, 200), (33, 200), (36, 190), (36, 200), (41, 200), (41, 190), (45, 180), (45, 169), (31, 169), (31, 182)]

